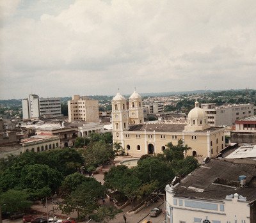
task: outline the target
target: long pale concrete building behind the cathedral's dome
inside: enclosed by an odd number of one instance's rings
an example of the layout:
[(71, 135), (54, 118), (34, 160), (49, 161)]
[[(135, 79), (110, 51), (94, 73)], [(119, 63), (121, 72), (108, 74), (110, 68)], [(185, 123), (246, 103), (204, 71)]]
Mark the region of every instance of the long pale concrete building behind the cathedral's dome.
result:
[(201, 108), (206, 112), (211, 127), (234, 125), (236, 120), (253, 116), (255, 109), (253, 104), (216, 106), (215, 103), (201, 104)]

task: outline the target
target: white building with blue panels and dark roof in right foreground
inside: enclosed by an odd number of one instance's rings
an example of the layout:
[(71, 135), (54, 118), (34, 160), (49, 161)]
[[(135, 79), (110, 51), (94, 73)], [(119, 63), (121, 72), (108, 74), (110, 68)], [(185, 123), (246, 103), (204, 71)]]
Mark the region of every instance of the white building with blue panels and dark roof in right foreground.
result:
[(168, 223), (255, 223), (255, 164), (210, 160), (166, 186)]

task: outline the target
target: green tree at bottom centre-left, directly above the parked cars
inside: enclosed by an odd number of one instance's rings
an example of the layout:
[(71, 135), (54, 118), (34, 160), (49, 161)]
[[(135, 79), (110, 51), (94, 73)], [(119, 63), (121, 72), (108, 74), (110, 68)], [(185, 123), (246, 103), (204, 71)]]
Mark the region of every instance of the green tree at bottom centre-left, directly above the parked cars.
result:
[(93, 213), (99, 207), (97, 199), (105, 197), (106, 188), (94, 178), (86, 178), (86, 181), (77, 186), (76, 190), (65, 197), (60, 209), (63, 213), (70, 214), (77, 210), (79, 219), (89, 213)]

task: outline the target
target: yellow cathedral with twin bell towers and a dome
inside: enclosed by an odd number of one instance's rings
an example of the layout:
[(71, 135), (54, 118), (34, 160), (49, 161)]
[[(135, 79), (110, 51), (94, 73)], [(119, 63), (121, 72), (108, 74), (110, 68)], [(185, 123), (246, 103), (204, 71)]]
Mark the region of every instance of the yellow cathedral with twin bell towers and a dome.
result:
[(112, 100), (113, 143), (120, 142), (132, 157), (163, 153), (166, 144), (182, 139), (191, 150), (185, 155), (215, 157), (225, 148), (225, 128), (210, 127), (207, 114), (195, 102), (188, 114), (188, 125), (144, 123), (141, 96), (134, 91), (129, 103), (117, 93)]

